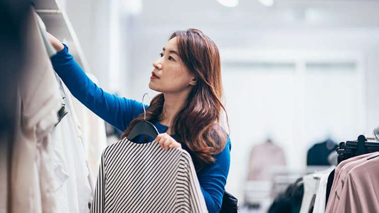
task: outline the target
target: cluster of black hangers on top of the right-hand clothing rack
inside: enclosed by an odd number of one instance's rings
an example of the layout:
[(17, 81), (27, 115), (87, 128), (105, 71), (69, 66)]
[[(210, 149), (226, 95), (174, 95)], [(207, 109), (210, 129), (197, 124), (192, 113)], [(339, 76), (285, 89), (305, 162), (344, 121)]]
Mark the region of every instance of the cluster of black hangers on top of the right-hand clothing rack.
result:
[(337, 148), (338, 160), (337, 163), (367, 153), (374, 153), (379, 151), (379, 143), (367, 142), (364, 135), (359, 135), (357, 140), (341, 142)]

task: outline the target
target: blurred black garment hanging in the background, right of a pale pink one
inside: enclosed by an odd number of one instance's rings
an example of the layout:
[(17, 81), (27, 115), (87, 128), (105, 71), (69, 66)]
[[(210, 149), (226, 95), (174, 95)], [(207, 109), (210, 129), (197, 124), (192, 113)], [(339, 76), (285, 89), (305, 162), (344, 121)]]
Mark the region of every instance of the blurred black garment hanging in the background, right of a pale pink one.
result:
[(310, 166), (328, 166), (328, 156), (336, 151), (337, 144), (333, 140), (326, 140), (323, 143), (315, 144), (308, 150), (306, 165)]

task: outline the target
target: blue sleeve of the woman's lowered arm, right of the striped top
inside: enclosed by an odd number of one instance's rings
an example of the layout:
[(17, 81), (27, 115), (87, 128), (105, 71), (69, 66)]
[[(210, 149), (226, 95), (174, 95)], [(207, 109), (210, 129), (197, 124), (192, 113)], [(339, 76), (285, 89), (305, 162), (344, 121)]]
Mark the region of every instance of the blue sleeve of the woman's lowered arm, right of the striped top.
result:
[(224, 150), (215, 155), (215, 164), (198, 174), (201, 190), (209, 213), (220, 212), (226, 179), (230, 167), (231, 142), (229, 136)]

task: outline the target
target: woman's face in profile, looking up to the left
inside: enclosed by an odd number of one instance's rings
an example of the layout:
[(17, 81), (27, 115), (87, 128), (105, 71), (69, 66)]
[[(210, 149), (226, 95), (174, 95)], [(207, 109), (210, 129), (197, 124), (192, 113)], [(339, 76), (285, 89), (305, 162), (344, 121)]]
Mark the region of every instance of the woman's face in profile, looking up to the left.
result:
[(176, 37), (166, 43), (160, 56), (153, 62), (149, 88), (161, 93), (191, 90), (196, 84), (195, 76), (189, 73), (178, 55)]

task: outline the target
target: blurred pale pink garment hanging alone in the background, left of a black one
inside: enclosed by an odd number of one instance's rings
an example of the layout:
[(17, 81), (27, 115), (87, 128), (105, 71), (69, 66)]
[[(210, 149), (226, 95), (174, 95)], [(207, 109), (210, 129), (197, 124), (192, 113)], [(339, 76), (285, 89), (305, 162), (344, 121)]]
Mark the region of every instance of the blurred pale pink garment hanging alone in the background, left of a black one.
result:
[(270, 169), (285, 165), (283, 150), (271, 141), (266, 141), (254, 146), (250, 152), (247, 180), (270, 180)]

